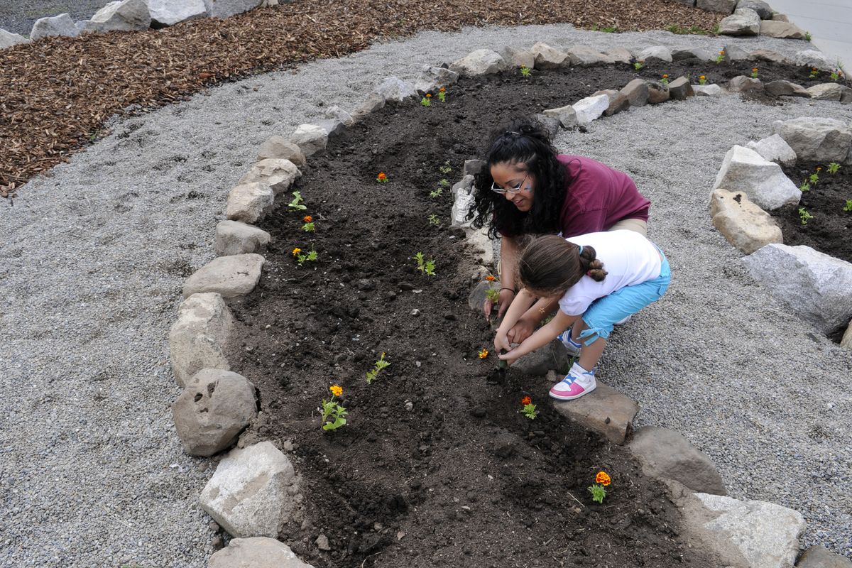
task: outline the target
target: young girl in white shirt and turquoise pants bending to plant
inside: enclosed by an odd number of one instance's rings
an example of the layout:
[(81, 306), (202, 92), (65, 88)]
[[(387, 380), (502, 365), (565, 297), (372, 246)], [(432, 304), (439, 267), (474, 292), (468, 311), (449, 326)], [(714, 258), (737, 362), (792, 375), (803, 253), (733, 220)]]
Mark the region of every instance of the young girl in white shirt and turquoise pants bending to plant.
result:
[[(500, 324), (494, 347), (498, 352), (505, 349), (508, 353), (500, 359), (511, 364), (560, 339), (569, 353), (579, 354), (579, 360), (550, 389), (550, 396), (572, 400), (595, 390), (595, 366), (613, 324), (665, 294), (671, 270), (655, 244), (638, 232), (619, 230), (567, 239), (556, 235), (537, 238), (523, 251), (517, 277), (523, 289)], [(517, 319), (530, 307), (540, 307), (541, 321), (544, 307), (554, 300), (559, 309), (553, 319), (512, 347), (507, 333)]]

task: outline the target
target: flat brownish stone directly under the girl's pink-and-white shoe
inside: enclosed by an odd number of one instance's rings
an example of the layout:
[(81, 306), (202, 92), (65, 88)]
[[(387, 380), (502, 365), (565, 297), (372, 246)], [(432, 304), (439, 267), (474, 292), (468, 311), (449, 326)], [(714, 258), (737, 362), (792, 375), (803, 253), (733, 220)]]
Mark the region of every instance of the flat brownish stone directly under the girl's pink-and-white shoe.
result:
[[(556, 383), (561, 376), (550, 371), (547, 378)], [(591, 393), (574, 400), (555, 400), (553, 408), (569, 420), (602, 433), (613, 444), (624, 444), (633, 429), (633, 418), (639, 411), (639, 404), (598, 380), (596, 389)]]

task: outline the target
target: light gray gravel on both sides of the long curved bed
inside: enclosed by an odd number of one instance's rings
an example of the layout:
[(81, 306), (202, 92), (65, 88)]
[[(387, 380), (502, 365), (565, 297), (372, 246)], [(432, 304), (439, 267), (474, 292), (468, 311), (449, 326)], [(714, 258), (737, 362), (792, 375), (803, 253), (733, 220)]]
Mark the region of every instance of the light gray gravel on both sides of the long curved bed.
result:
[[(0, 200), (0, 565), (204, 566), (211, 535), (197, 495), (215, 464), (181, 451), (166, 340), (183, 278), (213, 256), (227, 190), (269, 135), (323, 106), (351, 108), (386, 74), (413, 79), (425, 63), (538, 40), (722, 47), (572, 26), (423, 33), (116, 121), (112, 135), (24, 186), (14, 206)], [(559, 141), (636, 177), (675, 273), (665, 300), (614, 336), (602, 379), (642, 403), (643, 423), (705, 450), (733, 496), (797, 508), (811, 523), (806, 543), (846, 554), (852, 404), (839, 383), (852, 358), (809, 338), (755, 288), (705, 204), (731, 144), (768, 134), (773, 118), (850, 113), (700, 99)]]

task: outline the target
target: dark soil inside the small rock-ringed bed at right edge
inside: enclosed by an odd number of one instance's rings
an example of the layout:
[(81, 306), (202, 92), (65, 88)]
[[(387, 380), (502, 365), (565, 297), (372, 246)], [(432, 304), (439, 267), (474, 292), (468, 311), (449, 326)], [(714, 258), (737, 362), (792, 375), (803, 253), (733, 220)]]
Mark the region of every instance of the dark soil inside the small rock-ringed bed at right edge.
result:
[[(784, 235), (784, 244), (805, 244), (812, 249), (852, 262), (852, 211), (844, 211), (852, 200), (852, 167), (841, 166), (836, 174), (828, 173), (828, 164), (796, 164), (784, 169), (793, 183), (801, 187), (809, 176), (817, 173), (819, 181), (802, 192), (798, 205), (786, 205), (772, 212)], [(852, 203), (849, 204), (852, 209)], [(799, 209), (812, 218), (803, 224)]]

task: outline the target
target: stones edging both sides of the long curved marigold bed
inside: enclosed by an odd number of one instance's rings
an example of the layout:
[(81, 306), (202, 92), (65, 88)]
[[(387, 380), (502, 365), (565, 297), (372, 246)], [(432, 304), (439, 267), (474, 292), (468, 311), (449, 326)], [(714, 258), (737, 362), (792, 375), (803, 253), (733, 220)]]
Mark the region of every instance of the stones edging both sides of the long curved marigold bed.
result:
[[(665, 52), (668, 51), (665, 48), (651, 50), (643, 51), (647, 52), (647, 57), (662, 59), (665, 59)], [(563, 53), (538, 43), (530, 52), (507, 48), (504, 55), (505, 58), (491, 50), (480, 49), (454, 62), (449, 69), (427, 66), (416, 85), (405, 83), (396, 77), (388, 77), (351, 114), (337, 106), (332, 107), (325, 121), (302, 124), (288, 139), (275, 136), (263, 144), (258, 155), (259, 161), (228, 195), (227, 221), (222, 221), (216, 227), (218, 257), (187, 278), (183, 289), (185, 301), (181, 304), (178, 319), (170, 330), (171, 364), (177, 382), (184, 387), (183, 393), (173, 405), (173, 414), (177, 433), (187, 453), (211, 456), (226, 450), (257, 416), (254, 387), (245, 377), (230, 371), (224, 354), (227, 345), (235, 341), (231, 336), (232, 316), (226, 300), (249, 294), (261, 276), (264, 260), (262, 255), (257, 253), (264, 250), (270, 236), (250, 223), (262, 220), (273, 208), (276, 200), (280, 201), (282, 197), (285, 201), (291, 200), (291, 194), (287, 191), (301, 175), (298, 166), (304, 164), (306, 158), (315, 152), (324, 149), (330, 135), (335, 135), (341, 129), (365, 118), (370, 112), (383, 107), (388, 100), (402, 102), (427, 92), (434, 93), (440, 87), (455, 83), (459, 75), (474, 76), (499, 72), (509, 66), (527, 66), (530, 69), (560, 66), (563, 61), (570, 61), (576, 66), (630, 63), (636, 55), (642, 54), (616, 49), (602, 55), (586, 48)], [(668, 58), (671, 60), (671, 53)], [(747, 77), (736, 77), (728, 83), (732, 91), (743, 90), (740, 88), (742, 84), (754, 85), (751, 81), (738, 81), (740, 78)], [(671, 99), (683, 100), (694, 96), (696, 90), (703, 95), (725, 93), (722, 89), (714, 93), (702, 92), (704, 89), (698, 87), (691, 85), (687, 77), (678, 77), (667, 85), (636, 79), (619, 92), (599, 92), (573, 105), (545, 111), (543, 119), (554, 129), (558, 129), (560, 125), (573, 128), (590, 123), (603, 115), (610, 116), (630, 106), (643, 106), (648, 102), (656, 104)], [(463, 180), (453, 187), (454, 225), (464, 225), (463, 216), (469, 205), (473, 181), (471, 173), (475, 167), (475, 163), (465, 164)], [(469, 244), (479, 250), (481, 262), (488, 264), (491, 245), (484, 233), (471, 231), (467, 227), (466, 230)], [(476, 268), (472, 278), (481, 278), (483, 270), (487, 268)], [(484, 286), (481, 284), (479, 289), (482, 288)], [(592, 399), (592, 395), (588, 399)], [(633, 416), (638, 410), (636, 404), (613, 392), (611, 400), (607, 401), (607, 413), (615, 420), (610, 420), (610, 416), (607, 416), (606, 421), (603, 421), (596, 416), (590, 416), (589, 412), (584, 412), (583, 404), (580, 404), (583, 400), (585, 399), (573, 404), (555, 403), (555, 406), (563, 415), (587, 427), (598, 429), (617, 443), (624, 443), (630, 433)], [(658, 440), (657, 443), (648, 441), (654, 439)], [(664, 439), (665, 443), (662, 442)], [(676, 446), (678, 450), (674, 455), (666, 453), (661, 456), (654, 453), (657, 446)], [(696, 508), (701, 511), (721, 511), (722, 517), (728, 518), (735, 527), (734, 534), (741, 542), (746, 542), (740, 550), (741, 554), (746, 555), (745, 548), (748, 547), (763, 547), (763, 553), (777, 556), (780, 565), (792, 565), (798, 552), (798, 537), (804, 530), (801, 515), (770, 503), (744, 503), (709, 494), (724, 493), (715, 468), (703, 454), (689, 445), (686, 439), (670, 430), (642, 428), (636, 433), (630, 448), (645, 464), (647, 473), (661, 477), (673, 486), (673, 496), (678, 496), (686, 515), (697, 515)], [(701, 479), (695, 479), (694, 475), (690, 477), (683, 471), (694, 469), (696, 463), (701, 464)], [(258, 473), (265, 474), (266, 481), (260, 484), (260, 487), (253, 486), (250, 491), (245, 491), (251, 479), (256, 479)], [(661, 475), (662, 473), (665, 473), (665, 476)], [(224, 563), (226, 558), (228, 561), (238, 557), (259, 558), (256, 554), (281, 554), (282, 557), (291, 558), (292, 565), (302, 565), (292, 558), (292, 553), (285, 544), (274, 540), (281, 515), (296, 506), (291, 496), (298, 496), (298, 482), (289, 460), (269, 442), (261, 442), (229, 453), (220, 462), (213, 479), (210, 479), (201, 496), (202, 508), (235, 537), (228, 548), (213, 555), (210, 565)], [(684, 490), (684, 485), (689, 489)], [(241, 490), (242, 493), (236, 496)], [(226, 504), (228, 499), (232, 501)], [(234, 500), (239, 503), (236, 507), (233, 505)], [(757, 509), (762, 513), (756, 514)], [(764, 524), (759, 522), (761, 514), (767, 519), (785, 518), (786, 524), (776, 524), (773, 525), (774, 529), (767, 530), (763, 527)], [(707, 535), (702, 529), (703, 523), (696, 523), (696, 526), (692, 527), (694, 537), (705, 541)], [(733, 542), (726, 546), (737, 548)]]

